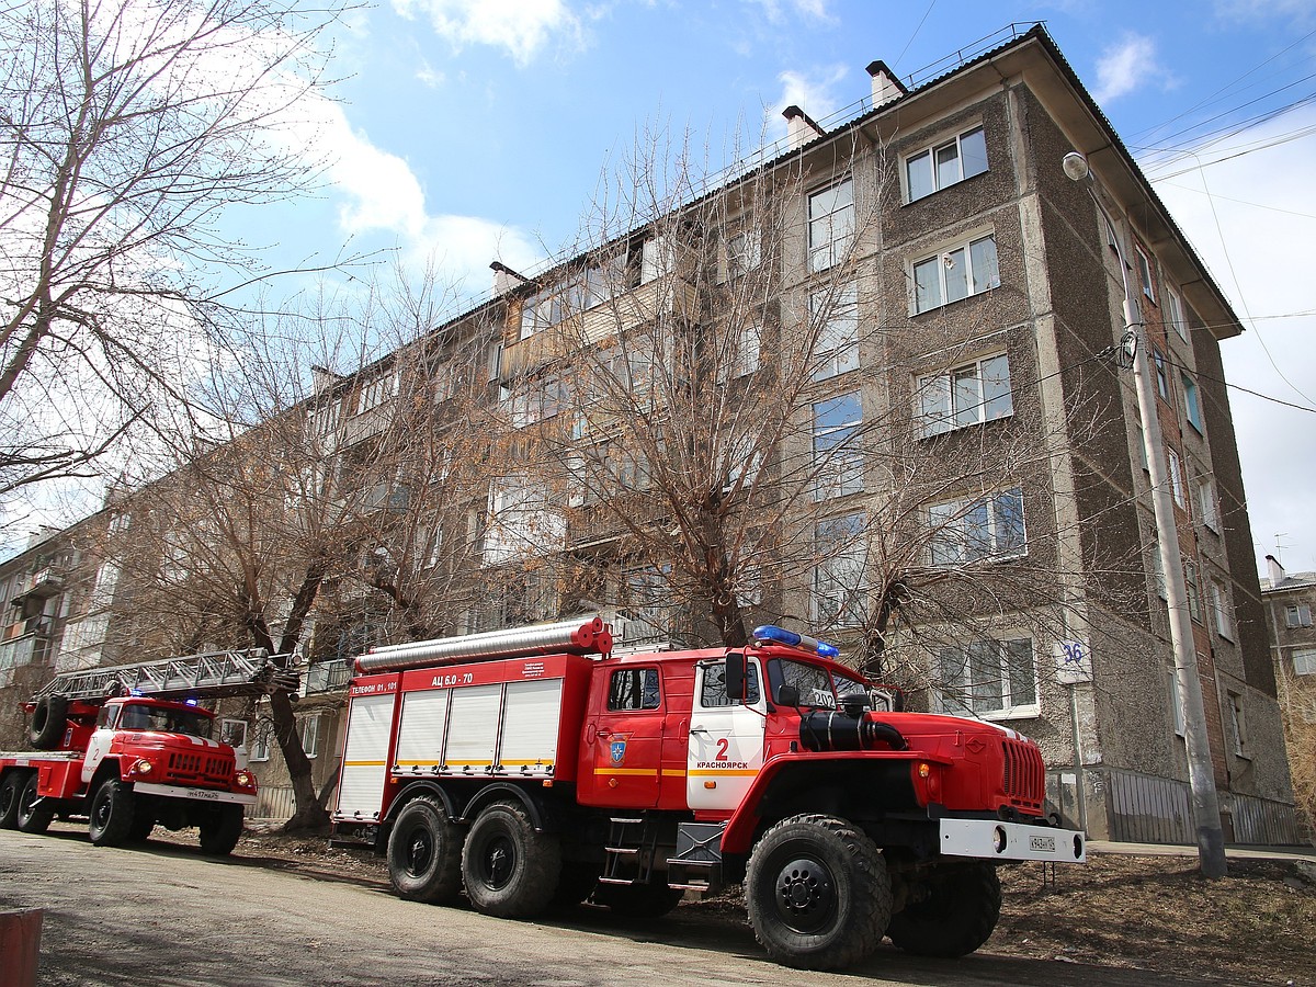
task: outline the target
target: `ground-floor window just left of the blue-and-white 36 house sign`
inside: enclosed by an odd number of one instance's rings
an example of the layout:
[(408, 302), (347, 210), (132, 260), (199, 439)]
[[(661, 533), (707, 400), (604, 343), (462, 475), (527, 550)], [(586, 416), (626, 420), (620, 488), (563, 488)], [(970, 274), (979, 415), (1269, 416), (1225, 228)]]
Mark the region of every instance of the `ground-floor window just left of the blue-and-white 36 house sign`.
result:
[(1037, 716), (1037, 667), (1030, 638), (986, 638), (938, 654), (940, 711), (996, 719)]

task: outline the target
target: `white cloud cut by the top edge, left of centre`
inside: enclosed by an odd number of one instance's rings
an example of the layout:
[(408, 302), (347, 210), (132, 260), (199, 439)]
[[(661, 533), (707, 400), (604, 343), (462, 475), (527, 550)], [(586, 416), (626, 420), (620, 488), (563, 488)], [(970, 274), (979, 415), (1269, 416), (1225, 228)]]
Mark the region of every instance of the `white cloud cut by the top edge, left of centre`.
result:
[(507, 49), (526, 66), (554, 38), (580, 46), (580, 20), (562, 0), (393, 0), (403, 17), (424, 14), (454, 49), (490, 45)]

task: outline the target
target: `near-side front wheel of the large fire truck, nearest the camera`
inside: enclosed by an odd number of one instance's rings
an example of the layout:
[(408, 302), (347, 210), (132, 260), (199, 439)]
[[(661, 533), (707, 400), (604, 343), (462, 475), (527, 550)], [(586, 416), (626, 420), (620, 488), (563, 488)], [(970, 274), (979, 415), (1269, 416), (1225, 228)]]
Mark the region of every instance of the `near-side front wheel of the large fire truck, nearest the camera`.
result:
[(836, 970), (878, 948), (891, 920), (891, 878), (873, 840), (849, 822), (791, 816), (754, 846), (745, 901), (772, 959)]

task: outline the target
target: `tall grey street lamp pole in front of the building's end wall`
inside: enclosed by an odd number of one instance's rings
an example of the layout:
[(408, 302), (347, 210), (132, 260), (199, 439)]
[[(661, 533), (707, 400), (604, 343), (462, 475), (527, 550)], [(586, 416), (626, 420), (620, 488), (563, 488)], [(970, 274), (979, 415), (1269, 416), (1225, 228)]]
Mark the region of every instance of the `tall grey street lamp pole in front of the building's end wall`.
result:
[(1179, 532), (1174, 520), (1174, 500), (1170, 494), (1165, 465), (1165, 440), (1157, 415), (1155, 390), (1148, 366), (1145, 325), (1138, 303), (1129, 291), (1129, 266), (1115, 224), (1092, 191), (1087, 158), (1070, 151), (1062, 161), (1066, 176), (1083, 184), (1096, 211), (1105, 220), (1120, 262), (1124, 283), (1124, 354), (1133, 358), (1133, 383), (1138, 395), (1138, 413), (1142, 416), (1142, 443), (1152, 480), (1152, 508), (1155, 513), (1157, 544), (1161, 549), (1161, 571), (1165, 574), (1165, 597), (1170, 611), (1170, 646), (1174, 649), (1174, 674), (1179, 683), (1183, 705), (1183, 734), (1188, 755), (1188, 784), (1192, 790), (1192, 812), (1198, 825), (1198, 858), (1202, 874), (1223, 878), (1227, 871), (1224, 832), (1220, 828), (1220, 800), (1216, 778), (1211, 766), (1211, 742), (1207, 737), (1205, 707), (1202, 700), (1202, 680), (1198, 678), (1198, 651), (1192, 642), (1192, 620), (1188, 616), (1188, 594), (1183, 579), (1183, 557), (1179, 553)]

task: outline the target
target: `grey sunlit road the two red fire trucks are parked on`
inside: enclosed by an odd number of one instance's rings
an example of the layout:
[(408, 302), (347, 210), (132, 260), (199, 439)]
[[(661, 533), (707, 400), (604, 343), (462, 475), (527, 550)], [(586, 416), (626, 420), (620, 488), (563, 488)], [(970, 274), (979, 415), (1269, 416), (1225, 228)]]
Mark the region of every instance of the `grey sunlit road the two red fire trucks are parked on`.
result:
[(3, 830), (0, 911), (46, 909), (38, 984), (1198, 983), (983, 953), (928, 961), (890, 945), (846, 974), (799, 973), (769, 962), (747, 926), (696, 909), (640, 923), (582, 908), (563, 921), (516, 923), (403, 901), (375, 880), (280, 867), (162, 842), (97, 849), (83, 833)]

